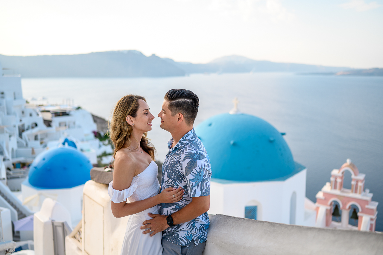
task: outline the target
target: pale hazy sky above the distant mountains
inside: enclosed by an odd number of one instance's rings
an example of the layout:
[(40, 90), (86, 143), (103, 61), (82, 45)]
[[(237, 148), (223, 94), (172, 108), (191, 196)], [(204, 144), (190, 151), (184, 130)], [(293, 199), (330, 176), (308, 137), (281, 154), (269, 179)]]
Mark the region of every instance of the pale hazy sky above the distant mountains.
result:
[(383, 0), (0, 0), (0, 54), (383, 67)]

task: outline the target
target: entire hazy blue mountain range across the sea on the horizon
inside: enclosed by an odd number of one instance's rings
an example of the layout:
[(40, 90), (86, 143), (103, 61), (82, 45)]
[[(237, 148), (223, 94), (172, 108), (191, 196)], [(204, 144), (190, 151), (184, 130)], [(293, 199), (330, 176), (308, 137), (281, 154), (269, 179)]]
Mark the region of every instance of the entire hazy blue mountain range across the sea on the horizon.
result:
[(169, 77), (195, 73), (337, 73), (351, 70), (349, 67), (259, 61), (236, 55), (207, 64), (193, 64), (154, 54), (147, 57), (134, 50), (27, 57), (0, 55), (0, 62), (3, 67), (16, 69), (23, 77)]

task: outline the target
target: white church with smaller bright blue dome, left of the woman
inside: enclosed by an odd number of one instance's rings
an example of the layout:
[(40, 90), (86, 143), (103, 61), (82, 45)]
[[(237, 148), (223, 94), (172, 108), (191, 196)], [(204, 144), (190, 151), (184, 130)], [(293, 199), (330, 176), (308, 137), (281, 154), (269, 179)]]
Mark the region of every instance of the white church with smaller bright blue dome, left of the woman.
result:
[[(39, 211), (45, 198), (52, 198), (68, 209), (72, 223), (82, 217), (82, 191), (90, 180), (92, 164), (73, 146), (49, 149), (39, 154), (21, 184), (23, 203)], [(74, 225), (75, 226), (75, 225)]]

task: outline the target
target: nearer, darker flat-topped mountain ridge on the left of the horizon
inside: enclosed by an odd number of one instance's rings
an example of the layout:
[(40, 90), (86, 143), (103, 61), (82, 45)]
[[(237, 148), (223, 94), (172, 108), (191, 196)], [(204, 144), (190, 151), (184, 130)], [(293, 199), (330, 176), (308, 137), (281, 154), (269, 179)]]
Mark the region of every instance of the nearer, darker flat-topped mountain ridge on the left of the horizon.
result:
[(78, 55), (4, 56), (3, 67), (18, 70), (23, 77), (167, 77), (185, 71), (139, 51), (106, 51)]

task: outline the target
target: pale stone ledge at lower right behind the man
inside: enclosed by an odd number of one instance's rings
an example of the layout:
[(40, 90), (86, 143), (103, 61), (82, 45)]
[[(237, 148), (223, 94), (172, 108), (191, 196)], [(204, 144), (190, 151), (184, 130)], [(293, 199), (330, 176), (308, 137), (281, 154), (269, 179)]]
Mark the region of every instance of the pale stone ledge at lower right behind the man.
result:
[(203, 255), (382, 254), (383, 234), (209, 215)]

